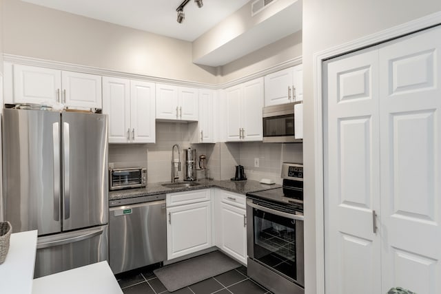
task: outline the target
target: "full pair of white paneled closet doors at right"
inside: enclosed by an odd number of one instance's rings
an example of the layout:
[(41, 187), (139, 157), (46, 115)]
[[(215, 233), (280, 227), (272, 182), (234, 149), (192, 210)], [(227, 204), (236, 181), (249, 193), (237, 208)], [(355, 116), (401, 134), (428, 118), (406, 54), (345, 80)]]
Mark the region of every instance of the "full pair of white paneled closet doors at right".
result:
[(325, 64), (325, 287), (441, 293), (441, 27)]

